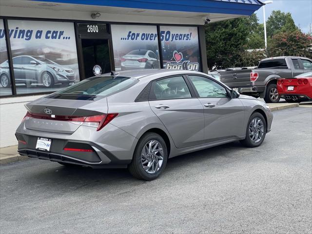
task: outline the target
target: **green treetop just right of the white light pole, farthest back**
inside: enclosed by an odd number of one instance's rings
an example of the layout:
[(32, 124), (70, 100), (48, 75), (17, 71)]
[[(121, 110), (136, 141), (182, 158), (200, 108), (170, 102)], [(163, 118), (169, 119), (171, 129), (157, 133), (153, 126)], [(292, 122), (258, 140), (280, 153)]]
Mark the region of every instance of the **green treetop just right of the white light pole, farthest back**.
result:
[(269, 38), (280, 32), (294, 32), (297, 30), (298, 27), (294, 24), (292, 14), (289, 12), (273, 11), (267, 20), (267, 36)]

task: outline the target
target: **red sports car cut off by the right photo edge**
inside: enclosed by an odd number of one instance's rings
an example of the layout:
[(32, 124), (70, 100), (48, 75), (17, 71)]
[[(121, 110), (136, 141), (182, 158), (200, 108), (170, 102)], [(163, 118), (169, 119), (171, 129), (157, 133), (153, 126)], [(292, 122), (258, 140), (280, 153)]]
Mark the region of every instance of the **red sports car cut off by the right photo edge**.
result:
[(277, 90), (287, 102), (312, 100), (312, 71), (295, 78), (278, 79)]

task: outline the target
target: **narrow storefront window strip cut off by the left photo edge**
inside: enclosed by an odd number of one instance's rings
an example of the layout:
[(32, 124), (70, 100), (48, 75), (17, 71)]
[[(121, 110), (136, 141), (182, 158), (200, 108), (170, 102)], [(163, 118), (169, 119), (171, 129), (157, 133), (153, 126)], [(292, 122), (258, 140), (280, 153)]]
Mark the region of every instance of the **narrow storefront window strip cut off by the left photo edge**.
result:
[(0, 96), (12, 95), (3, 20), (0, 19)]

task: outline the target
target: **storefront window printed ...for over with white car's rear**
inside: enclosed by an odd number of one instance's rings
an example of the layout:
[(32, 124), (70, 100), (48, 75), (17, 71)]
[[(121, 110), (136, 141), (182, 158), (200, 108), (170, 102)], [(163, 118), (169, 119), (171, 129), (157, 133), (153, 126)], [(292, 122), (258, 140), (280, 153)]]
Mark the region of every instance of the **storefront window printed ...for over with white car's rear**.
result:
[(157, 27), (111, 25), (115, 69), (160, 68)]

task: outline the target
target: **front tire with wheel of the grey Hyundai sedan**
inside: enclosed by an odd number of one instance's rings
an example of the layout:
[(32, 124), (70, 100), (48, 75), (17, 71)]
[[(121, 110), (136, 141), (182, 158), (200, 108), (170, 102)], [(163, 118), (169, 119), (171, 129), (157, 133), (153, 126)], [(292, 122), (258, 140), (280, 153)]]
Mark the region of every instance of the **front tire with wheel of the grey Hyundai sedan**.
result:
[[(258, 120), (261, 120), (258, 122)], [(258, 122), (258, 125), (255, 125)], [(256, 127), (255, 127), (256, 126)], [(254, 112), (248, 120), (246, 128), (246, 138), (240, 140), (240, 143), (246, 147), (258, 147), (262, 144), (267, 133), (267, 124), (263, 117), (258, 112)]]

